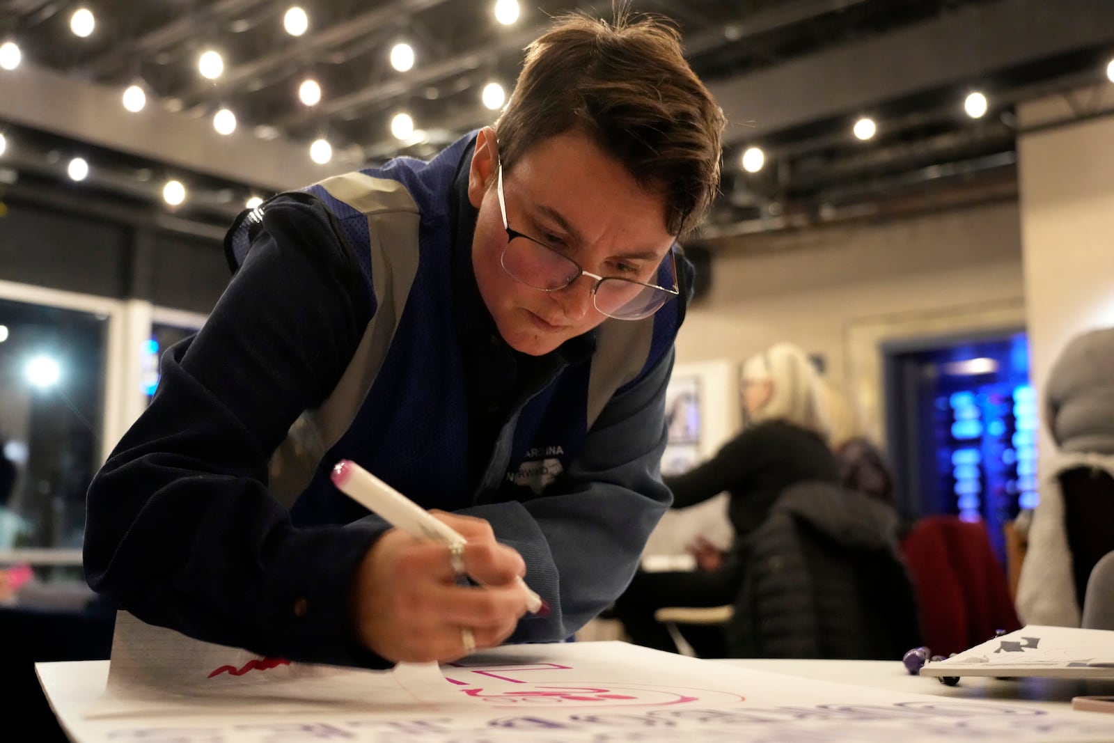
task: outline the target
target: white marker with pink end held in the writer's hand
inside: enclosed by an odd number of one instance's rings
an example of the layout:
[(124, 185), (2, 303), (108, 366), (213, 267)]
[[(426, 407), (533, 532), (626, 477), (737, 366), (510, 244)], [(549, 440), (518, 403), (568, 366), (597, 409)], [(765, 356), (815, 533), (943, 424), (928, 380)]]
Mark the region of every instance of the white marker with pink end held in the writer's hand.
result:
[[(394, 528), (414, 537), (436, 539), (448, 545), (453, 567), (458, 574), (465, 573), (463, 549), (468, 540), (450, 526), (349, 459), (336, 462), (332, 479), (341, 492), (378, 514)], [(526, 585), (521, 576), (518, 577), (518, 583), (526, 594), (526, 608), (531, 614), (537, 614), (543, 606), (541, 597)]]

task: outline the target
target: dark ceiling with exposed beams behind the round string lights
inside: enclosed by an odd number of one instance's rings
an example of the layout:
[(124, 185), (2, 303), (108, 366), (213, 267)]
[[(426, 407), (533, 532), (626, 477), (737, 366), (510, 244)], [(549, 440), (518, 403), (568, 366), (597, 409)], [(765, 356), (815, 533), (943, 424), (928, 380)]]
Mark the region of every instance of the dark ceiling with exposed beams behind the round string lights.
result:
[[(175, 219), (226, 224), (250, 194), (267, 195), (400, 153), (424, 157), (489, 124), (480, 91), (508, 90), (522, 48), (546, 19), (583, 10), (609, 16), (610, 2), (521, 0), (501, 26), (494, 0), (304, 0), (307, 32), (292, 37), (274, 0), (136, 0), (84, 3), (96, 14), (88, 38), (70, 31), (81, 6), (0, 0), (0, 42), (17, 41), (23, 63), (0, 69), (0, 187), (9, 197), (86, 199), (133, 212), (158, 202), (165, 177), (188, 184)], [(693, 68), (729, 116), (723, 196), (703, 235), (791, 227), (879, 205), (917, 208), (1016, 193), (1015, 106), (1038, 96), (1111, 85), (1114, 0), (635, 0), (635, 11), (672, 18)], [(410, 42), (413, 68), (388, 52)], [(197, 59), (215, 49), (223, 75), (208, 80)], [(320, 104), (299, 101), (315, 78)], [(139, 84), (148, 109), (130, 115), (124, 88)], [(979, 119), (962, 111), (986, 92)], [(233, 110), (226, 141), (209, 121)], [(1077, 107), (1078, 108), (1078, 107)], [(419, 136), (401, 141), (390, 119), (409, 113)], [(1077, 116), (1093, 115), (1086, 107)], [(872, 116), (878, 135), (851, 126)], [(333, 146), (330, 166), (309, 145)], [(756, 174), (741, 169), (751, 145), (766, 153)], [(71, 184), (74, 154), (90, 175)], [(78, 193), (76, 189), (81, 189)]]

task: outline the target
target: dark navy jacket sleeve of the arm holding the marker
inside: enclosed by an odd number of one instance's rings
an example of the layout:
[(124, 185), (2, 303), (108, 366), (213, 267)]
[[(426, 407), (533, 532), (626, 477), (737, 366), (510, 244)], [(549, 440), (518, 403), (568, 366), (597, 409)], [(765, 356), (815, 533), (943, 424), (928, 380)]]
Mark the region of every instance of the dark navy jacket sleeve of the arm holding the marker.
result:
[(165, 354), (150, 407), (90, 485), (86, 578), (199, 639), (383, 665), (345, 626), (353, 571), (381, 527), (295, 528), (267, 490), (271, 453), (340, 379), (373, 299), (323, 206), (280, 197), (264, 214), (244, 265), (204, 327)]

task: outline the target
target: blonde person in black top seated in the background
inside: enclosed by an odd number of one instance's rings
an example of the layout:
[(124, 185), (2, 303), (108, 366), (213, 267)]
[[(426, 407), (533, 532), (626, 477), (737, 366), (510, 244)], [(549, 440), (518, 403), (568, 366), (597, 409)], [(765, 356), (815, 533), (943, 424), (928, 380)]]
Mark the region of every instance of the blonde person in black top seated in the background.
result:
[(839, 465), (828, 447), (824, 389), (815, 366), (795, 345), (779, 343), (742, 368), (743, 429), (710, 460), (666, 477), (673, 508), (726, 491), (735, 537), (726, 555), (697, 545), (696, 571), (643, 571), (615, 602), (612, 614), (631, 642), (675, 651), (668, 629), (654, 619), (666, 606), (720, 606), (734, 602), (745, 569), (745, 545), (791, 485), (839, 485)]

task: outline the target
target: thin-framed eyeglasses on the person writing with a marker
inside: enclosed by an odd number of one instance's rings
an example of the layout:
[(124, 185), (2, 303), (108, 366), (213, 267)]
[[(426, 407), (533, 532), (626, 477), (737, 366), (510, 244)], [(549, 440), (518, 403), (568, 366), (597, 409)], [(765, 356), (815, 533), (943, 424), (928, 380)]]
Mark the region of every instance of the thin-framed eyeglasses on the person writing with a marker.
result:
[[(677, 260), (670, 250), (673, 289), (647, 284), (623, 276), (599, 276), (580, 267), (573, 258), (546, 245), (539, 239), (511, 229), (507, 224), (507, 203), (502, 196), (502, 164), (496, 186), (499, 195), (499, 212), (502, 226), (507, 231), (507, 246), (502, 248), (502, 270), (517, 282), (541, 290), (556, 292), (565, 289), (580, 276), (595, 278), (592, 286), (592, 303), (602, 314), (615, 320), (642, 320), (654, 314), (681, 291), (677, 287)], [(661, 265), (657, 266), (659, 268)], [(656, 273), (655, 268), (655, 273)]]

